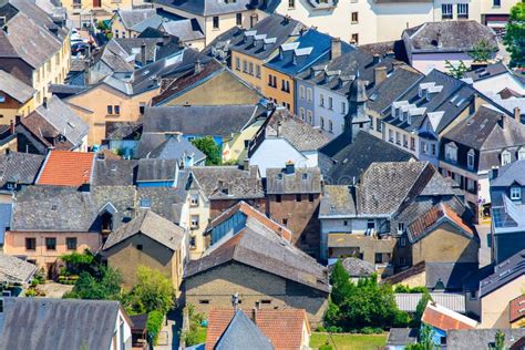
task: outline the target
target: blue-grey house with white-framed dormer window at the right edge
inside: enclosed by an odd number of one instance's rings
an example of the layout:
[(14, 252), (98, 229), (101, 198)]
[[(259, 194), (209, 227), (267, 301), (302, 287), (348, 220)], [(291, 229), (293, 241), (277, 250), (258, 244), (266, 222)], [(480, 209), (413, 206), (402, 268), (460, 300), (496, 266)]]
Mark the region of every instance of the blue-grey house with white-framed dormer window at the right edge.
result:
[(522, 219), (524, 207), (523, 174), (525, 161), (516, 161), (500, 169), (492, 169), (491, 212), (492, 212), (492, 260), (500, 264), (525, 247), (525, 223)]

